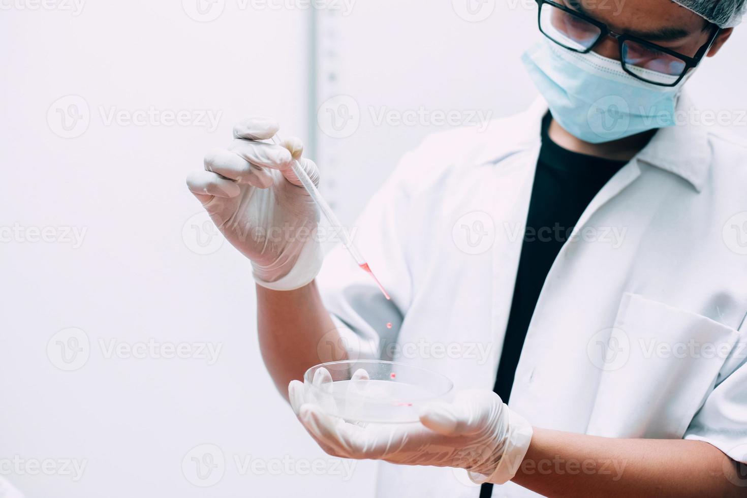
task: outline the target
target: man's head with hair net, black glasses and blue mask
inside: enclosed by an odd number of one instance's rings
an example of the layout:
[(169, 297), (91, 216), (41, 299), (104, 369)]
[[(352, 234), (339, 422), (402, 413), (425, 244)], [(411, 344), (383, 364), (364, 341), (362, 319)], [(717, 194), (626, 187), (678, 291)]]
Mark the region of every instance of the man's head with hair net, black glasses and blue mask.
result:
[(533, 46), (524, 63), (554, 122), (598, 144), (645, 143), (676, 125), (684, 83), (719, 52), (747, 0), (536, 1), (552, 43)]

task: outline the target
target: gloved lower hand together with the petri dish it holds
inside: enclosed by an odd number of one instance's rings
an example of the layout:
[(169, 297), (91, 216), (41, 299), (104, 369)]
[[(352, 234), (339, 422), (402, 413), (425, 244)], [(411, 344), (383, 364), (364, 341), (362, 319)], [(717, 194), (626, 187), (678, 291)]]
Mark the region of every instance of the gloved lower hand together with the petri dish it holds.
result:
[(491, 390), (451, 396), (441, 374), (391, 361), (335, 361), (288, 386), (291, 406), (324, 451), (341, 458), (468, 470), (502, 484), (524, 458), (532, 427)]

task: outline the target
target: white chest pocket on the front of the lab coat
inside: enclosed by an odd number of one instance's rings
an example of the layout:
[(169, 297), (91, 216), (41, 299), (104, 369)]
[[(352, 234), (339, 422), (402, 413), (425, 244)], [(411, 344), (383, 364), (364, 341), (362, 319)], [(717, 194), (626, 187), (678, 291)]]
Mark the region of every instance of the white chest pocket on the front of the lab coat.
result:
[(710, 318), (625, 293), (613, 329), (589, 343), (602, 372), (586, 433), (681, 438), (738, 336)]

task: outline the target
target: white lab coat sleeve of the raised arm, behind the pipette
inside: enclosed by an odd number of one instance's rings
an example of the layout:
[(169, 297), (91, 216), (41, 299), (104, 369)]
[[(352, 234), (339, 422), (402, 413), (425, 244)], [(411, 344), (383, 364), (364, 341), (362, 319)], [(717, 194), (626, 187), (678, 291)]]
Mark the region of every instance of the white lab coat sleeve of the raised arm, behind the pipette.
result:
[(394, 354), (397, 331), (411, 299), (411, 266), (406, 250), (413, 220), (409, 219), (408, 208), (418, 183), (417, 169), (423, 164), (417, 149), (406, 154), (351, 228), (356, 246), (391, 301), (341, 244), (326, 256), (317, 277), (322, 299), (350, 359), (391, 360)]

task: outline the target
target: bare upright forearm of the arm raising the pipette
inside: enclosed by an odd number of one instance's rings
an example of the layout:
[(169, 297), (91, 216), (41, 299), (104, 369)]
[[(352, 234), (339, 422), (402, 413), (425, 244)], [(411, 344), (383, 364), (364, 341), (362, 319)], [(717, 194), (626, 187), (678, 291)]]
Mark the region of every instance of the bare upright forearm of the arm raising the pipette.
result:
[(285, 291), (257, 285), (257, 323), (262, 359), (286, 399), (288, 383), (303, 379), (309, 367), (320, 363), (320, 344), (325, 351), (332, 344), (333, 358), (345, 357), (314, 282)]

